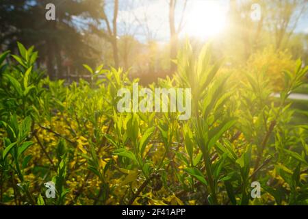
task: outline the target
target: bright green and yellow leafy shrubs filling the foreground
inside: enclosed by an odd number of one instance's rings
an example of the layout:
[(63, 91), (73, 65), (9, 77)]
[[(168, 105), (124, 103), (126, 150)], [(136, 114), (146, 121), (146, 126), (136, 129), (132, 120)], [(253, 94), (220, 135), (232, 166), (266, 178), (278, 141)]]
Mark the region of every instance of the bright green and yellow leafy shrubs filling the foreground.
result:
[[(84, 67), (90, 82), (42, 78), (33, 47), (0, 56), (0, 198), (9, 205), (298, 205), (308, 203), (308, 129), (292, 125), (287, 97), (307, 67), (286, 70), (274, 98), (262, 70), (238, 81), (224, 60), (187, 43), (175, 77), (150, 89), (192, 88), (192, 117), (123, 113), (127, 72)], [(99, 79), (98, 75), (104, 75)], [(138, 81), (136, 79), (135, 81)], [(306, 114), (307, 116), (307, 114)], [(44, 183), (55, 183), (47, 198)], [(261, 198), (251, 198), (251, 182)]]

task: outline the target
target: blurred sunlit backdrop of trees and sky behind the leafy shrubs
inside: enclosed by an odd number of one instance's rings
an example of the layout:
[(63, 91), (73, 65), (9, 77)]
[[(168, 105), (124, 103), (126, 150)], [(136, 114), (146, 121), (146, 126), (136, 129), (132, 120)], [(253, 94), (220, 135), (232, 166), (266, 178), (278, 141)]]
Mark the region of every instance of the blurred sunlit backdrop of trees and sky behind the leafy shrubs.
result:
[[(45, 18), (47, 3), (55, 21)], [(51, 79), (86, 78), (82, 64), (105, 64), (147, 84), (176, 71), (172, 60), (189, 38), (196, 51), (211, 41), (235, 74), (267, 66), (279, 87), (283, 69), (308, 62), (307, 7), (305, 0), (1, 0), (0, 52), (16, 53), (16, 41), (34, 45)]]

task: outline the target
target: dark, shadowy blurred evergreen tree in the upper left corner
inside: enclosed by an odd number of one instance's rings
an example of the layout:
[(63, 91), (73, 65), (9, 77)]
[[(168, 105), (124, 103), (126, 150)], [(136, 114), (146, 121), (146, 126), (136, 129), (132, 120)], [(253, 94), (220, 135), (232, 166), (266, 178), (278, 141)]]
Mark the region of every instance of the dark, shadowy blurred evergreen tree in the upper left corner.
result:
[[(82, 25), (77, 17), (94, 16), (90, 0), (3, 0), (0, 5), (1, 38), (3, 48), (15, 49), (16, 40), (26, 46), (34, 45), (40, 52), (40, 63), (47, 66), (51, 78), (60, 77), (64, 56), (74, 66), (91, 63), (95, 49), (84, 41)], [(55, 21), (47, 21), (45, 6), (55, 5)], [(2, 23), (5, 24), (2, 26)]]

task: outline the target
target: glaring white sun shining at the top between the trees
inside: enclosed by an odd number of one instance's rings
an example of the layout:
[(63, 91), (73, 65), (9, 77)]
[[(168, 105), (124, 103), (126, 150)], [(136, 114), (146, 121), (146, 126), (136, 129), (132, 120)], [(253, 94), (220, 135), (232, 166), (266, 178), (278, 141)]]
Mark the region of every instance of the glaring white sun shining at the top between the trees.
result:
[(220, 1), (192, 1), (185, 18), (183, 32), (197, 38), (213, 37), (223, 31), (226, 18), (226, 9)]

